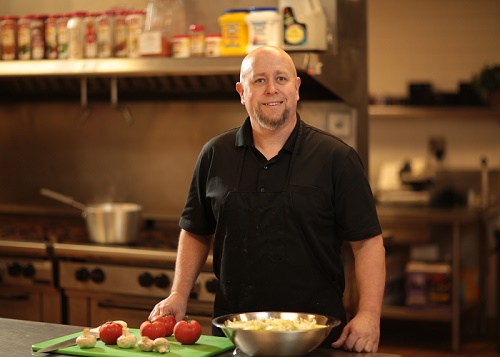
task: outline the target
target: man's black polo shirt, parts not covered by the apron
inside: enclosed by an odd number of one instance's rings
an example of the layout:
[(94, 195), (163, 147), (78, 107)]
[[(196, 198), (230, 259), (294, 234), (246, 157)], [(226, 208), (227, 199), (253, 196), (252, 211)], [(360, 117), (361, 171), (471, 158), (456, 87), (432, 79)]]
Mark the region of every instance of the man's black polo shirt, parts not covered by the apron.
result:
[[(317, 242), (325, 255), (337, 255), (342, 240), (380, 234), (372, 191), (355, 150), (339, 138), (305, 124), (300, 117), (283, 149), (269, 161), (253, 145), (249, 118), (240, 128), (205, 144), (180, 227), (193, 234), (213, 234), (228, 192), (281, 191), (295, 145), (299, 147), (289, 190), (307, 239)], [(236, 182), (240, 169), (241, 180)]]

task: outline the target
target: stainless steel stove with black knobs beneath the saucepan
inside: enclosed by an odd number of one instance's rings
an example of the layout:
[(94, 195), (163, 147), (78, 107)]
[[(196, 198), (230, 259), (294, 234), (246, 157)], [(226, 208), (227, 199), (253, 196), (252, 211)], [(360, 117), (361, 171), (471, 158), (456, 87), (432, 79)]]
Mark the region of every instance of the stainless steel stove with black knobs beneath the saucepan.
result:
[[(88, 240), (81, 219), (0, 215), (1, 286), (56, 289), (62, 301), (57, 322), (96, 326), (125, 320), (139, 327), (170, 293), (178, 233), (176, 223), (145, 221), (136, 243), (100, 245)], [(205, 334), (211, 334), (218, 288), (212, 269), (210, 255), (187, 311)], [(0, 316), (4, 316), (1, 311)]]

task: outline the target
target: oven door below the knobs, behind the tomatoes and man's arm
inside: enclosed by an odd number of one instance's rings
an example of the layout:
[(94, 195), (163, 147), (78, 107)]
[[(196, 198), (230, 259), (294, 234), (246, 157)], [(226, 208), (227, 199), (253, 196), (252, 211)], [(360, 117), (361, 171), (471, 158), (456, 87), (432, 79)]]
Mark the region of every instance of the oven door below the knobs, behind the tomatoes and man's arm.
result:
[[(68, 323), (78, 326), (99, 326), (104, 321), (124, 320), (139, 328), (160, 299), (121, 294), (99, 294), (67, 290)], [(200, 323), (202, 334), (212, 334), (212, 304), (190, 301), (186, 315)]]

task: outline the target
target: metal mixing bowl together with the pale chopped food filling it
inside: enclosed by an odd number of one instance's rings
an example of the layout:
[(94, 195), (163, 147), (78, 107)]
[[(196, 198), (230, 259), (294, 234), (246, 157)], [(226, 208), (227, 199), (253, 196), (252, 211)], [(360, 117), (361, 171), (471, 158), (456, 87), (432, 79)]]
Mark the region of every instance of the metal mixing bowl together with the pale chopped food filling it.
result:
[(340, 320), (299, 312), (247, 312), (212, 323), (249, 356), (303, 356), (317, 348)]

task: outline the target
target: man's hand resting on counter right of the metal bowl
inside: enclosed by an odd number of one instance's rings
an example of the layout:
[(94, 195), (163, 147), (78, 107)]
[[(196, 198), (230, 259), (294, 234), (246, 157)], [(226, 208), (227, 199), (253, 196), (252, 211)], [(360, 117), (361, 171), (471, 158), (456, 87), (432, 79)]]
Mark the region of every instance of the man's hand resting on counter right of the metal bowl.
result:
[(345, 327), (333, 348), (346, 351), (377, 352), (380, 338), (380, 317), (358, 313)]

